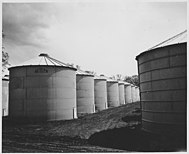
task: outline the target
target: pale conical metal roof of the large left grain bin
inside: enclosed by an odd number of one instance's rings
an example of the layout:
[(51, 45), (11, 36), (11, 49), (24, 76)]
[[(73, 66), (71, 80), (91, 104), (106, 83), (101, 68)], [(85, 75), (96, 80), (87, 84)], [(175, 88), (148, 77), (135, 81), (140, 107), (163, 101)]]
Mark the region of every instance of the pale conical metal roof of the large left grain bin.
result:
[[(35, 57), (33, 59), (30, 59), (24, 63), (11, 66), (11, 67), (17, 67), (17, 66), (37, 66), (37, 65), (45, 65), (45, 66), (64, 66), (64, 67), (69, 67), (69, 68), (74, 68), (70, 64), (63, 63), (57, 59), (54, 59), (50, 57), (46, 53), (41, 53), (38, 57)], [(76, 68), (74, 68), (76, 69)]]

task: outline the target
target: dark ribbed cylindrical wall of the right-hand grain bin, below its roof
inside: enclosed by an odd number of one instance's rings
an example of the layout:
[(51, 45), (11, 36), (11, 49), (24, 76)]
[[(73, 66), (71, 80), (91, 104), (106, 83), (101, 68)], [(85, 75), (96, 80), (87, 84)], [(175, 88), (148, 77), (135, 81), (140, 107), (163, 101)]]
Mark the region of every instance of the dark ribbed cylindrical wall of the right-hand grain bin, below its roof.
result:
[(136, 57), (145, 131), (186, 134), (186, 46), (156, 47)]

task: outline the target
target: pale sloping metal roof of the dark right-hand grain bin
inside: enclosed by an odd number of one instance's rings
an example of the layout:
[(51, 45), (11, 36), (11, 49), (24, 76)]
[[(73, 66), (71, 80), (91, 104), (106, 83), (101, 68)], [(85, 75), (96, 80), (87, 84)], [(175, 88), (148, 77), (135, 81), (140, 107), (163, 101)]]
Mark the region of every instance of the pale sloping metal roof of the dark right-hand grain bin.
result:
[(148, 50), (152, 50), (152, 49), (156, 49), (159, 47), (164, 47), (164, 46), (168, 46), (172, 44), (184, 43), (184, 42), (187, 42), (187, 30), (149, 48)]

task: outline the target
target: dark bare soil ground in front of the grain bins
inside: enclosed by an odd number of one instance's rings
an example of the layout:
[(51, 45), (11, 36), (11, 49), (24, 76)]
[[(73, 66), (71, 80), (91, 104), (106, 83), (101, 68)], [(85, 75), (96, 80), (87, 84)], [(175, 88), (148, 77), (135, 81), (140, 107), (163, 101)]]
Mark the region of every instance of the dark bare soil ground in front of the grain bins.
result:
[(3, 119), (2, 152), (185, 151), (181, 137), (141, 131), (139, 103), (110, 108), (75, 120), (44, 123)]

